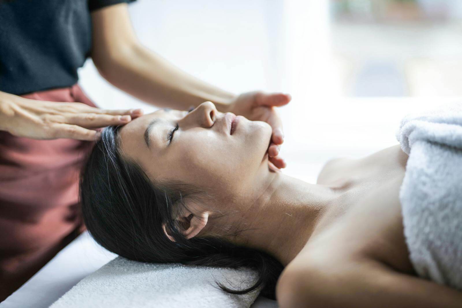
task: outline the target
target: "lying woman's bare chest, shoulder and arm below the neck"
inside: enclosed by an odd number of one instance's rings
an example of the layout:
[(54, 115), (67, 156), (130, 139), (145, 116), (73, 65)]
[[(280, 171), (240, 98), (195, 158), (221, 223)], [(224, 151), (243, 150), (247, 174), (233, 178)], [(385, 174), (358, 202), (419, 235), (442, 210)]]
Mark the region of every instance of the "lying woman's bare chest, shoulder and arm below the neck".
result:
[(399, 200), (407, 158), (397, 145), (326, 164), (317, 182), (341, 197), (280, 275), (280, 308), (462, 307), (462, 292), (417, 277), (409, 260)]

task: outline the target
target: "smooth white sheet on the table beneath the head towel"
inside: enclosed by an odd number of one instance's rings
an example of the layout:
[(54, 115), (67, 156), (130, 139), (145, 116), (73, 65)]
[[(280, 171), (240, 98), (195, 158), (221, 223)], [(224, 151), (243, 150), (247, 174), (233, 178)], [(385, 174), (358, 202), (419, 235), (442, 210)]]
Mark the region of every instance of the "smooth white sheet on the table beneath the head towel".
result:
[[(5, 301), (0, 308), (47, 308), (80, 280), (116, 258), (84, 232)], [(277, 302), (259, 296), (251, 308), (277, 308)]]

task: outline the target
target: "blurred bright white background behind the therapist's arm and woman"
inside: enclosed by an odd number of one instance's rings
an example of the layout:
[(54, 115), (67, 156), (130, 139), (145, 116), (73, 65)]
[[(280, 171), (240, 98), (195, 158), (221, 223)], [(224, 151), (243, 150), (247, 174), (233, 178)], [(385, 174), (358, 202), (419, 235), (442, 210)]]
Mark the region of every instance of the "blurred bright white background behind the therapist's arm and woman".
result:
[[(403, 115), (462, 96), (461, 0), (138, 0), (140, 41), (236, 94), (282, 91), (284, 173), (316, 182), (334, 157), (396, 145)], [(80, 84), (101, 108), (157, 110), (109, 85), (91, 60)]]

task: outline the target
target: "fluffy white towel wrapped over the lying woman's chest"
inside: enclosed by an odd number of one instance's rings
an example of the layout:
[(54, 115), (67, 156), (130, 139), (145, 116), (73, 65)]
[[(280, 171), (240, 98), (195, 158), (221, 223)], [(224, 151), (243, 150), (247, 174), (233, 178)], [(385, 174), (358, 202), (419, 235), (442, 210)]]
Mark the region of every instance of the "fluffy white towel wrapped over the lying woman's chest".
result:
[(462, 103), (405, 117), (396, 137), (409, 155), (400, 201), (412, 264), (462, 290)]

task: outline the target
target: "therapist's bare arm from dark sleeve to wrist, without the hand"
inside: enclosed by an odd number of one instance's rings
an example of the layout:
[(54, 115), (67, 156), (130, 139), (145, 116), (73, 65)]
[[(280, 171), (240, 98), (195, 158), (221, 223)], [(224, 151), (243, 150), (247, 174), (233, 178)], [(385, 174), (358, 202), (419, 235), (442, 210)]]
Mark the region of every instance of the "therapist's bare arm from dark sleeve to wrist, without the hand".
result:
[(211, 101), (219, 111), (227, 111), (228, 104), (237, 97), (183, 72), (141, 45), (127, 4), (92, 12), (91, 19), (91, 58), (100, 74), (117, 88), (146, 103), (180, 110)]

